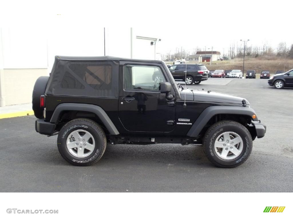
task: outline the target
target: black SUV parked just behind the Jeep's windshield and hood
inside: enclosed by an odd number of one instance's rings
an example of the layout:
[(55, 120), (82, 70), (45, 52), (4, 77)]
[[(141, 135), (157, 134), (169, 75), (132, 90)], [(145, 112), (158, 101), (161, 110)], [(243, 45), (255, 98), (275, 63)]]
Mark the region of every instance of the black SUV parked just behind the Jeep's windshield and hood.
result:
[(203, 64), (177, 64), (171, 66), (169, 70), (175, 80), (185, 81), (187, 85), (200, 84), (208, 78), (207, 67)]

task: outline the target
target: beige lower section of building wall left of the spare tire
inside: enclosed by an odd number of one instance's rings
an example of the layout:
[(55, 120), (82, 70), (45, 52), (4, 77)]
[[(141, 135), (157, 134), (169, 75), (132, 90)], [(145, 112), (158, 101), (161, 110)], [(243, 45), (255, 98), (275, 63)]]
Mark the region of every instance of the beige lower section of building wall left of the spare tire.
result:
[(35, 81), (48, 76), (45, 69), (4, 69), (5, 104), (15, 105), (32, 102)]

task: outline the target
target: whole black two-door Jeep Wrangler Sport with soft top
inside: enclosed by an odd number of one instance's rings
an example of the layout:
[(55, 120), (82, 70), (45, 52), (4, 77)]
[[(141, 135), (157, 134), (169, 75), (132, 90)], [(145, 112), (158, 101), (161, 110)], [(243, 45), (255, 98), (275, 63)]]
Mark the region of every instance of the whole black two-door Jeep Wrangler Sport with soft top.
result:
[[(156, 79), (154, 79), (154, 74)], [(35, 129), (58, 134), (62, 157), (97, 162), (109, 144), (203, 144), (218, 167), (236, 167), (265, 135), (246, 99), (176, 84), (158, 60), (55, 57), (33, 89)]]

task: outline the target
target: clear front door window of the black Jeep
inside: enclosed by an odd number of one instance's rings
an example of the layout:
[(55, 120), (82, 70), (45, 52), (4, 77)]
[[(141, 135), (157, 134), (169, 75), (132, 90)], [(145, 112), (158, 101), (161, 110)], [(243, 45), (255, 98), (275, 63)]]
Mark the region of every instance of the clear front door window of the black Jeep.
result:
[(166, 79), (161, 68), (156, 66), (125, 65), (123, 70), (124, 89), (159, 91)]

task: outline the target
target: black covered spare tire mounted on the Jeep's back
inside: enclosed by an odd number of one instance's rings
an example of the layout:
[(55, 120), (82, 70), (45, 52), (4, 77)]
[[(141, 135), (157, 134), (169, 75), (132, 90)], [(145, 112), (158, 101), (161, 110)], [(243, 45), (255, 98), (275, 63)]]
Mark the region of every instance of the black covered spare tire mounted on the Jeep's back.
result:
[(46, 86), (48, 83), (48, 76), (41, 76), (35, 82), (33, 89), (33, 111), (38, 119), (43, 119), (43, 107), (40, 107), (40, 96), (45, 94)]

